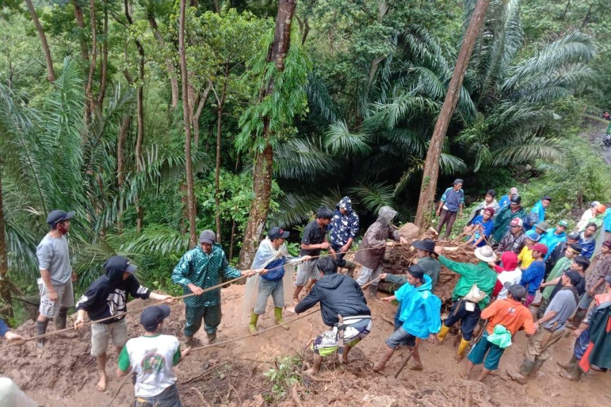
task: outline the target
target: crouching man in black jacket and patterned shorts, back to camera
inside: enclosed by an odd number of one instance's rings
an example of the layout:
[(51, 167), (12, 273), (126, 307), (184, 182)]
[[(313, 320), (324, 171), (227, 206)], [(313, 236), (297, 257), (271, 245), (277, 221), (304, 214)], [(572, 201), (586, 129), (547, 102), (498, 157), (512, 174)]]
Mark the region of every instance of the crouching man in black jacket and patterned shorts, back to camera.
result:
[[(324, 325), (332, 328), (316, 337), (311, 349), (314, 351), (312, 368), (306, 371), (315, 375), (320, 370), (323, 358), (340, 350), (342, 363), (348, 362), (349, 351), (371, 332), (371, 311), (363, 290), (354, 279), (337, 274), (337, 264), (332, 258), (320, 258), (316, 264), (323, 278), (312, 287), (312, 291), (295, 307), (301, 314), (320, 302), (320, 314)], [(337, 315), (342, 316), (342, 325)], [(343, 335), (338, 335), (338, 330)], [(341, 338), (341, 339), (340, 339)]]

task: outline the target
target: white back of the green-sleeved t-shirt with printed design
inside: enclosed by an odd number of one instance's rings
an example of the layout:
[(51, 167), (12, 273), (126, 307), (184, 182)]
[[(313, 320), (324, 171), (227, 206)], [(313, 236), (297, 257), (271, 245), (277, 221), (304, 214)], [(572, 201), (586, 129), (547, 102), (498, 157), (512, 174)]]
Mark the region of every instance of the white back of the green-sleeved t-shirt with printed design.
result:
[(180, 347), (172, 335), (140, 336), (125, 344), (132, 372), (136, 373), (136, 397), (154, 397), (176, 383), (172, 371), (174, 354)]

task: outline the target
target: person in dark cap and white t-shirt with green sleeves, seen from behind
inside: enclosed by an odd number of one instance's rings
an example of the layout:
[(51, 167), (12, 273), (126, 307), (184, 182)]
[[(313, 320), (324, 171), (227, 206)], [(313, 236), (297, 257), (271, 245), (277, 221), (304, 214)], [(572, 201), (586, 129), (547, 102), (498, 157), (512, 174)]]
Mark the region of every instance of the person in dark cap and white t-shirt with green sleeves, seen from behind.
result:
[(128, 371), (136, 373), (136, 407), (182, 407), (176, 375), (172, 367), (191, 352), (180, 351), (178, 338), (161, 334), (163, 320), (170, 315), (167, 305), (158, 305), (142, 311), (140, 323), (144, 335), (127, 341), (119, 355), (117, 375)]

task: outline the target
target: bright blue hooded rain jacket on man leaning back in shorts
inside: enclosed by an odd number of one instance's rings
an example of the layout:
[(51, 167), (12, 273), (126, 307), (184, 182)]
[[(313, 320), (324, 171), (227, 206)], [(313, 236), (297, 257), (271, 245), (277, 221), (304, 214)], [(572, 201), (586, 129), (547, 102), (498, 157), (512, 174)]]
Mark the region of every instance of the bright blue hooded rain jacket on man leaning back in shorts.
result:
[(431, 293), (431, 278), (424, 275), (424, 284), (420, 287), (409, 283), (403, 284), (395, 297), (400, 302), (403, 329), (408, 333), (427, 339), (430, 334), (441, 330), (441, 300)]

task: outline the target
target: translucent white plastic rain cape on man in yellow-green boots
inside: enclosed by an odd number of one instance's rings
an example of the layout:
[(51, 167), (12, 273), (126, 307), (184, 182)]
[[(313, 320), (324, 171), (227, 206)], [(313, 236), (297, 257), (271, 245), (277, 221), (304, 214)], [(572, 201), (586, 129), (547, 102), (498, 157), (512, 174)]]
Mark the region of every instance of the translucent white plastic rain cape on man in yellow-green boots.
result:
[[(252, 261), (251, 270), (265, 268), (266, 265), (276, 259), (284, 256), (287, 261), (284, 264), (284, 277), (282, 278), (282, 286), (284, 287), (284, 303), (288, 304), (291, 301), (293, 293), (293, 274), (295, 274), (295, 264), (301, 262), (301, 257), (295, 258), (288, 253), (287, 245), (282, 243), (279, 248), (274, 247), (274, 243), (269, 240), (269, 237), (263, 239), (259, 244), (255, 258)], [(242, 300), (242, 317), (244, 320), (250, 318), (251, 311), (257, 303), (259, 291), (259, 275), (254, 275), (246, 279), (246, 287), (244, 289), (244, 297)]]

